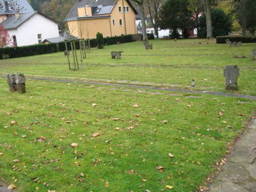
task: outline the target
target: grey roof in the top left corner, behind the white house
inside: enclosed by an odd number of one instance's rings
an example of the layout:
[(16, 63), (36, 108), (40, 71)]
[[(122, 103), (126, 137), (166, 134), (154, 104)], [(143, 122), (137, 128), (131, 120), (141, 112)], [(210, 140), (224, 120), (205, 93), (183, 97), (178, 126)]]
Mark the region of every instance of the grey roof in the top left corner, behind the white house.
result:
[[(10, 2), (10, 0), (7, 0), (7, 2)], [(34, 9), (31, 7), (31, 5), (28, 3), (27, 0), (16, 0), (17, 4), (19, 5), (19, 8), (23, 8), (20, 13), (29, 13), (33, 12)], [(0, 3), (3, 5), (3, 8), (0, 9), (0, 15), (7, 15), (7, 14), (14, 14), (13, 11), (7, 11), (5, 7), (5, 1), (0, 0)]]

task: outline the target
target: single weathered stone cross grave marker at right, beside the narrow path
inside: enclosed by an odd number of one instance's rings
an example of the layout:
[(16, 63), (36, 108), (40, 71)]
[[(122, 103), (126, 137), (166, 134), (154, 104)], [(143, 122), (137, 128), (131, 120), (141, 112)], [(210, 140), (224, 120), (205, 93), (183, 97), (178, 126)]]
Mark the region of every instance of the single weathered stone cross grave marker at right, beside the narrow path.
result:
[(224, 77), (226, 77), (226, 90), (238, 90), (238, 76), (238, 66), (226, 66), (226, 68), (224, 69)]

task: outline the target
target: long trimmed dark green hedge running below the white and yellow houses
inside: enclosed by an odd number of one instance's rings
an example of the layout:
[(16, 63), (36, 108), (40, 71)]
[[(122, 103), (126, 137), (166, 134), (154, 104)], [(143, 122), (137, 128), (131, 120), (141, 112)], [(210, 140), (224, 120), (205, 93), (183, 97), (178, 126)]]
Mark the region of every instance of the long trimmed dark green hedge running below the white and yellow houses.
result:
[[(138, 34), (136, 34), (138, 35)], [(134, 35), (122, 35), (116, 37), (106, 37), (104, 38), (104, 45), (113, 45), (117, 42), (132, 42), (134, 41)], [(75, 41), (76, 49), (79, 49), (79, 41)], [(91, 48), (97, 47), (97, 40), (90, 39)], [(70, 44), (68, 44), (68, 49), (71, 50)], [(32, 46), (23, 47), (7, 47), (0, 48), (0, 59), (3, 59), (2, 55), (9, 55), (9, 58), (16, 57), (26, 57), (32, 55), (41, 55), (47, 53), (55, 53), (58, 51), (66, 50), (65, 42), (58, 42), (57, 44), (37, 44)]]

